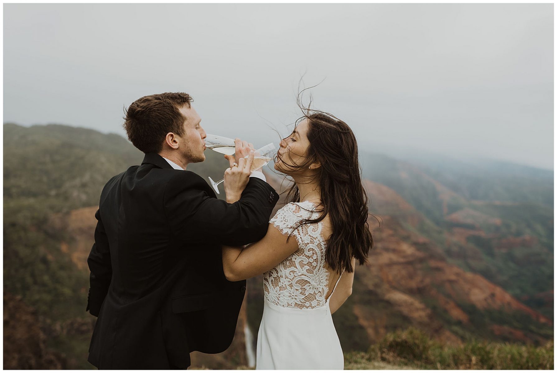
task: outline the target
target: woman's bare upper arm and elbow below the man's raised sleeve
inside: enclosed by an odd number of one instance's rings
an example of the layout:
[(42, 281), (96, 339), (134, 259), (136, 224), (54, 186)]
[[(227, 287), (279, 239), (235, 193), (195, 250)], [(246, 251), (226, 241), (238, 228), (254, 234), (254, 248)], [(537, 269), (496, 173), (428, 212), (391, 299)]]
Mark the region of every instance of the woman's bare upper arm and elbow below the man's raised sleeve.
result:
[(269, 223), (267, 234), (260, 241), (251, 243), (245, 248), (223, 246), (224, 276), (228, 281), (240, 281), (276, 267), (298, 249), (294, 234), (288, 242), (286, 238), (286, 234), (282, 234), (275, 225)]

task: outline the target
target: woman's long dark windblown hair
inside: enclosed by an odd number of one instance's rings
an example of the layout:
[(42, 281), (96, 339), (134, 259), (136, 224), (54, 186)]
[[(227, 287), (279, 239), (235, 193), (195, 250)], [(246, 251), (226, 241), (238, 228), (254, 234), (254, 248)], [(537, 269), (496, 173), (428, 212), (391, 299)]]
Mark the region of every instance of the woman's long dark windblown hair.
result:
[[(303, 91), (302, 91), (303, 92)], [(332, 234), (327, 240), (325, 261), (333, 271), (353, 272), (352, 257), (360, 264), (368, 262), (369, 249), (373, 248), (373, 237), (368, 224), (368, 196), (361, 184), (361, 169), (358, 161), (358, 144), (350, 127), (328, 112), (310, 109), (301, 103), (301, 93), (297, 104), (304, 114), (296, 125), (307, 119), (307, 139), (310, 145), (304, 161), (300, 164), (287, 164), (289, 170), (307, 168), (315, 161), (321, 163), (317, 173), (310, 181), (317, 180), (321, 190), (321, 212), (317, 219), (302, 219), (294, 225), (320, 222), (329, 215), (333, 225)], [(296, 183), (287, 189), (287, 202), (300, 202), (300, 190)], [(289, 236), (290, 238), (290, 236)]]

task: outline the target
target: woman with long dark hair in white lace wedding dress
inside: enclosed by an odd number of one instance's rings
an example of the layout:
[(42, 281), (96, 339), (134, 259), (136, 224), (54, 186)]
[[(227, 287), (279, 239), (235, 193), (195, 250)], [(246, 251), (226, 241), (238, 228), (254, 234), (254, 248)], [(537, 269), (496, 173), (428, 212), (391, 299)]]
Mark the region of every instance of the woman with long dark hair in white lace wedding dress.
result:
[(223, 270), (229, 281), (263, 273), (256, 369), (344, 369), (331, 314), (352, 292), (356, 259), (366, 263), (373, 247), (358, 146), (328, 113), (307, 109), (296, 122), (275, 158), (275, 169), (295, 181), (292, 202), (261, 241), (223, 247)]

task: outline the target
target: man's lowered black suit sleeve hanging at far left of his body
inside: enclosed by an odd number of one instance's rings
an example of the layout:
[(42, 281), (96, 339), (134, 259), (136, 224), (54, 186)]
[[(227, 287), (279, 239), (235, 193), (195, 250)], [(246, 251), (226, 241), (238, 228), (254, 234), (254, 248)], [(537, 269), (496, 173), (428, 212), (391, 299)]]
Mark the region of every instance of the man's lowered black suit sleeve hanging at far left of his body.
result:
[(100, 209), (95, 213), (97, 226), (95, 228), (95, 243), (87, 258), (91, 275), (89, 276), (89, 295), (87, 296), (87, 309), (91, 315), (99, 316), (102, 302), (108, 293), (112, 277), (112, 264), (108, 237), (100, 216)]

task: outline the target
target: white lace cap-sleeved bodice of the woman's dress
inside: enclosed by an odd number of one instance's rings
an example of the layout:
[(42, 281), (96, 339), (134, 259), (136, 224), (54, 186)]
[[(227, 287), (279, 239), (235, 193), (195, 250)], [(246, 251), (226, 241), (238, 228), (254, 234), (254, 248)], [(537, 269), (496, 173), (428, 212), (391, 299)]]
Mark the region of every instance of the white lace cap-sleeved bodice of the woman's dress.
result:
[[(288, 235), (299, 220), (319, 217), (318, 212), (312, 211), (314, 208), (315, 205), (310, 201), (289, 203), (279, 209), (269, 223), (275, 225), (282, 234)], [(290, 239), (296, 239), (297, 251), (275, 268), (263, 273), (263, 290), (269, 302), (295, 308), (325, 305), (329, 271), (325, 268), (326, 243), (321, 230), (321, 222), (304, 224), (294, 230)]]

